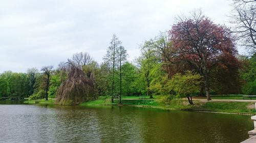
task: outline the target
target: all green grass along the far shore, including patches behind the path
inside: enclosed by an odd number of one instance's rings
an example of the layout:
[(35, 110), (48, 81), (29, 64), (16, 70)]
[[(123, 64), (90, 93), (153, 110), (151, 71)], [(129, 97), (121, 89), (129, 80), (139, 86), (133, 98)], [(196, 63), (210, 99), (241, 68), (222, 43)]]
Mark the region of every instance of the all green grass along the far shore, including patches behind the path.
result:
[[(212, 99), (240, 99), (243, 95), (214, 95), (211, 96)], [(194, 97), (195, 99), (200, 99)], [(134, 99), (134, 100), (129, 100)], [(121, 105), (130, 106), (146, 106), (146, 107), (164, 107), (169, 109), (178, 110), (196, 110), (196, 111), (214, 111), (214, 112), (228, 112), (228, 113), (244, 113), (244, 114), (255, 114), (254, 103), (248, 102), (201, 102), (194, 100), (194, 105), (189, 105), (187, 100), (176, 99), (172, 100), (168, 105), (163, 105), (159, 102), (158, 98), (156, 100), (144, 100), (150, 99), (148, 96), (122, 96)], [(205, 99), (204, 97), (202, 99)], [(25, 103), (35, 104), (53, 104), (55, 99), (45, 99), (40, 100), (28, 100)], [(93, 106), (93, 105), (119, 105), (119, 99), (115, 99), (114, 103), (111, 103), (111, 97), (100, 96), (97, 100), (91, 100), (83, 102), (82, 106)]]

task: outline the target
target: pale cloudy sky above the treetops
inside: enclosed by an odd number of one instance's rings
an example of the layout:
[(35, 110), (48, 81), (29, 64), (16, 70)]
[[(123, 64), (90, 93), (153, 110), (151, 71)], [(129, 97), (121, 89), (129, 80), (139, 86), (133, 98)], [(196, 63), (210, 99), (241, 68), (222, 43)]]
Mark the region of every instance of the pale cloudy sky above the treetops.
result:
[[(26, 72), (88, 52), (97, 62), (116, 34), (129, 54), (139, 45), (168, 31), (175, 16), (201, 9), (218, 24), (228, 25), (228, 0), (8, 0), (0, 5), (0, 73)], [(240, 51), (240, 50), (239, 50)], [(241, 52), (241, 51), (240, 51)]]

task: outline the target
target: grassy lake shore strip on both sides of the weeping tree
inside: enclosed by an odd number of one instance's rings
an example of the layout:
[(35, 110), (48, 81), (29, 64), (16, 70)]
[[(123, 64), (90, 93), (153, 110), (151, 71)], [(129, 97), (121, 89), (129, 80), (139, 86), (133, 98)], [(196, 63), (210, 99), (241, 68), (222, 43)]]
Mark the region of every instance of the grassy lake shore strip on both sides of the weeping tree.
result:
[[(45, 101), (41, 100), (28, 100), (24, 103), (27, 104), (54, 104), (55, 99), (49, 99)], [(154, 99), (122, 99), (122, 104), (118, 103), (118, 99), (114, 103), (111, 103), (110, 99), (97, 99), (79, 104), (80, 106), (136, 106), (136, 107), (147, 107), (147, 108), (159, 108), (167, 110), (187, 110), (187, 111), (198, 111), (198, 112), (214, 112), (214, 113), (229, 113), (237, 115), (255, 115), (255, 105), (251, 102), (227, 102), (227, 101), (194, 101), (195, 104), (189, 105), (161, 105)]]

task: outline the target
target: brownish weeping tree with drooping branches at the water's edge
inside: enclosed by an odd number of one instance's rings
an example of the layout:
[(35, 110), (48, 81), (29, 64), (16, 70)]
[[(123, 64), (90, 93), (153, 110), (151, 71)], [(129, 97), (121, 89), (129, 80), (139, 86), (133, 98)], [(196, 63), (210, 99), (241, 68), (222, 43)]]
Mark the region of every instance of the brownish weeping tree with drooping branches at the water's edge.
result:
[(61, 83), (56, 94), (56, 104), (77, 105), (94, 98), (94, 81), (83, 71), (72, 66), (65, 82)]

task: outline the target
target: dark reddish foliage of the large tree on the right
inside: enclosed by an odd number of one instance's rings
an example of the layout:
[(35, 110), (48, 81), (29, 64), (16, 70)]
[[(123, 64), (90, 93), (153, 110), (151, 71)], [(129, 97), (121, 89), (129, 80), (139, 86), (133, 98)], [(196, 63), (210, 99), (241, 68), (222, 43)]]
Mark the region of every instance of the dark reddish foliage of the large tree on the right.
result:
[[(176, 62), (186, 63), (203, 77), (205, 88), (210, 81), (233, 85), (238, 75), (237, 49), (225, 26), (215, 24), (205, 16), (183, 18), (169, 31)], [(214, 75), (212, 75), (214, 73)], [(234, 75), (229, 76), (229, 75)], [(217, 79), (212, 79), (217, 76)], [(212, 89), (212, 87), (211, 87)]]

